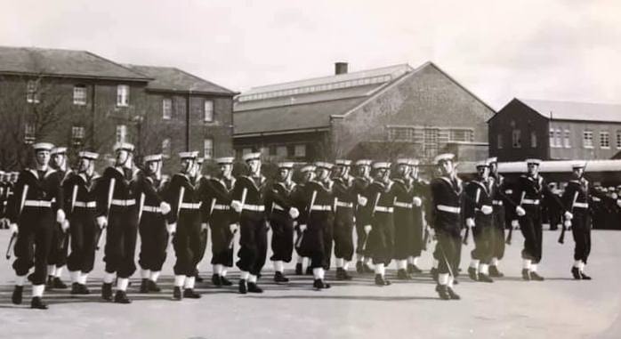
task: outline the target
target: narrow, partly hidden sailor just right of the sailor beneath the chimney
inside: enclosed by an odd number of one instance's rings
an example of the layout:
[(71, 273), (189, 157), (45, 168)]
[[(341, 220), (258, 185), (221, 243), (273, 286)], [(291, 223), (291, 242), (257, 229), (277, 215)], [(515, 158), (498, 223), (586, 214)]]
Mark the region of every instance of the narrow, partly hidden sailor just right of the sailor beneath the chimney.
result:
[(367, 241), (368, 234), (365, 232), (365, 225), (362, 225), (359, 222), (362, 207), (367, 205), (367, 198), (364, 198), (363, 193), (367, 190), (367, 186), (373, 182), (373, 178), (371, 177), (371, 160), (368, 159), (359, 159), (356, 161), (356, 177), (354, 178), (354, 187), (353, 193), (356, 194), (357, 197), (362, 198), (359, 201), (359, 205), (356, 208), (356, 271), (359, 274), (362, 273), (373, 273), (374, 270), (369, 267), (371, 263), (371, 256), (368, 254), (366, 248), (364, 248), (364, 244)]

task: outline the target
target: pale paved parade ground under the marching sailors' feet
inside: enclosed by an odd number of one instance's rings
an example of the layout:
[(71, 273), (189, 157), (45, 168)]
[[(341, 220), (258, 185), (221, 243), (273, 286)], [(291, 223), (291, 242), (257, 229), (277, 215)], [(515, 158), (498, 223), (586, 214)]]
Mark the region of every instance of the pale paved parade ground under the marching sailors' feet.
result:
[[(67, 292), (45, 295), (49, 311), (28, 309), (30, 288), (21, 306), (12, 305), (13, 272), (9, 262), (0, 267), (0, 337), (2, 338), (620, 338), (621, 232), (593, 232), (592, 281), (570, 278), (573, 240), (557, 243), (558, 233), (544, 232), (544, 282), (520, 278), (521, 236), (516, 232), (494, 284), (475, 283), (462, 275), (456, 286), (462, 301), (440, 301), (428, 274), (409, 282), (392, 279), (390, 287), (375, 287), (373, 276), (335, 282), (320, 292), (311, 278), (294, 277), (287, 285), (270, 283), (271, 267), (260, 281), (262, 295), (238, 295), (237, 287), (198, 284), (202, 299), (171, 301), (173, 254), (170, 252), (157, 295), (139, 295), (134, 274), (130, 305), (100, 299), (101, 253), (90, 279), (93, 292), (73, 298)], [(0, 230), (0, 248), (9, 232)], [(471, 239), (472, 246), (472, 239)], [(471, 247), (464, 248), (465, 271)], [(3, 252), (4, 254), (4, 252)], [(209, 255), (210, 259), (210, 255)], [(428, 271), (431, 258), (423, 254)], [(291, 264), (289, 269), (293, 269)], [(395, 274), (394, 267), (389, 276)], [(204, 277), (211, 268), (205, 261)], [(237, 271), (231, 274), (237, 283)], [(67, 276), (64, 277), (68, 281)]]

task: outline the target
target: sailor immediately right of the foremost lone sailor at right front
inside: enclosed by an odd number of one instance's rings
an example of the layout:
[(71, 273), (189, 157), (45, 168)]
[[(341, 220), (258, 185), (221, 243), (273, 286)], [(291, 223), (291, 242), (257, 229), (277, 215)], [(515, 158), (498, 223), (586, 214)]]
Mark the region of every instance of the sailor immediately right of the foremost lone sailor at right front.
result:
[(472, 230), (474, 249), (468, 275), (474, 281), (494, 282), (489, 278), (489, 263), (492, 260), (494, 238), (492, 194), (494, 182), (489, 180), (487, 161), (476, 164), (477, 178), (465, 187), (464, 217), (466, 227)]

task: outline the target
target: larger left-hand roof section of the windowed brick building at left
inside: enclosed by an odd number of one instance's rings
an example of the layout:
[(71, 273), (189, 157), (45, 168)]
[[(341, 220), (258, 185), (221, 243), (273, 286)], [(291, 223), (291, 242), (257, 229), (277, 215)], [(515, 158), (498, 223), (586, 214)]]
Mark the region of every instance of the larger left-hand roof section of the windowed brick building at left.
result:
[(150, 80), (92, 52), (33, 47), (0, 46), (0, 74)]

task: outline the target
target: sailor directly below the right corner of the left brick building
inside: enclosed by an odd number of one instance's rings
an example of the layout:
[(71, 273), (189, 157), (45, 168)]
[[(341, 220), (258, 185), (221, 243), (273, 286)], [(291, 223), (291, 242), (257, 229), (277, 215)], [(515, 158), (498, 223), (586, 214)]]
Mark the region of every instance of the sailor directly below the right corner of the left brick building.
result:
[(201, 184), (199, 194), (203, 205), (203, 221), (209, 221), (212, 232), (212, 283), (216, 287), (231, 286), (227, 272), (233, 267), (233, 237), (238, 230), (235, 213), (230, 208), (235, 178), (232, 176), (234, 157), (219, 157), (215, 162), (220, 173)]

